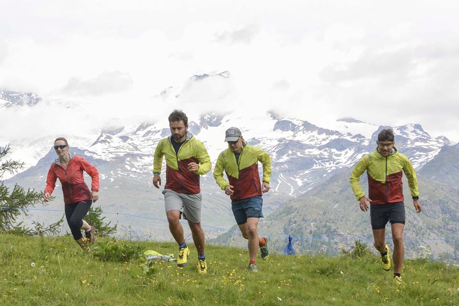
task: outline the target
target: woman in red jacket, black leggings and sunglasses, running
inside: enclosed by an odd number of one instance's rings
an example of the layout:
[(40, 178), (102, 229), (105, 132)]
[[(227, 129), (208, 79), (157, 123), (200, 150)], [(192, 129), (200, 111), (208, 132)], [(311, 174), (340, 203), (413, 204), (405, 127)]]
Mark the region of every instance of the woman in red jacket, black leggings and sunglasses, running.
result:
[[(69, 154), (69, 146), (65, 138), (57, 138), (54, 141), (54, 149), (58, 158), (49, 168), (43, 200), (49, 201), (49, 197), (56, 187), (56, 180), (59, 179), (62, 185), (65, 218), (68, 226), (73, 238), (83, 250), (86, 250), (86, 241), (94, 244), (95, 228), (84, 221), (83, 217), (88, 213), (92, 202), (99, 199), (99, 172), (83, 157)], [(91, 176), (91, 190), (84, 183), (83, 170)], [(85, 231), (86, 239), (83, 238), (82, 229)]]

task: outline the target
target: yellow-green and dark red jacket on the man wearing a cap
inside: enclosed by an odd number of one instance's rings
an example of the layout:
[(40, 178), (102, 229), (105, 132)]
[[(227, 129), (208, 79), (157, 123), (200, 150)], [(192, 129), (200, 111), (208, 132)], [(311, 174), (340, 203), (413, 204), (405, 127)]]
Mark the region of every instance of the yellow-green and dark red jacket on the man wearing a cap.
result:
[[(258, 173), (258, 162), (263, 165), (263, 182), (269, 184), (271, 157), (262, 149), (251, 146), (246, 142), (244, 142), (238, 162), (236, 162), (236, 156), (230, 148), (220, 153), (213, 170), (213, 177), (222, 190), (225, 190), (228, 185), (233, 186), (234, 193), (230, 196), (232, 201), (261, 196), (262, 189), (260, 174)], [(225, 171), (230, 182), (223, 178), (223, 171)]]

